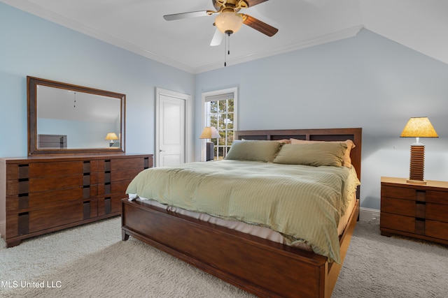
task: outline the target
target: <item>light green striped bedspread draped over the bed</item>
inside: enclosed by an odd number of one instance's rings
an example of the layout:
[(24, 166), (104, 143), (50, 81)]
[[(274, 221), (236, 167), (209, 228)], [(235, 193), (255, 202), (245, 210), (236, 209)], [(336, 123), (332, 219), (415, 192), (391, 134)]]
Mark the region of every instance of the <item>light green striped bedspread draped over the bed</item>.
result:
[(347, 167), (224, 160), (144, 170), (126, 193), (272, 228), (339, 263), (337, 224), (358, 184)]

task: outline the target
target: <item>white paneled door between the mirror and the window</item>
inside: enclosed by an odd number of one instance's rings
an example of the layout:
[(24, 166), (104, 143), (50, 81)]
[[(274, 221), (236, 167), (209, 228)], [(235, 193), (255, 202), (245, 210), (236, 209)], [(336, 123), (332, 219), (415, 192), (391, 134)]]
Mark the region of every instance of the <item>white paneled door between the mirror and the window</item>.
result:
[(155, 165), (180, 165), (187, 156), (187, 107), (190, 96), (156, 89)]

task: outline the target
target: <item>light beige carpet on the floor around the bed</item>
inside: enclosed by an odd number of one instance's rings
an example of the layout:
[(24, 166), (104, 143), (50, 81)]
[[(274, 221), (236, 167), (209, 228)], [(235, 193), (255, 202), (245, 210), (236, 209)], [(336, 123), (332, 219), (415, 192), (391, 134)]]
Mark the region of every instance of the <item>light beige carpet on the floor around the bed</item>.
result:
[[(332, 297), (447, 297), (448, 248), (358, 222)], [(41, 288), (43, 286), (43, 288)], [(254, 297), (130, 237), (120, 218), (5, 248), (0, 297)]]

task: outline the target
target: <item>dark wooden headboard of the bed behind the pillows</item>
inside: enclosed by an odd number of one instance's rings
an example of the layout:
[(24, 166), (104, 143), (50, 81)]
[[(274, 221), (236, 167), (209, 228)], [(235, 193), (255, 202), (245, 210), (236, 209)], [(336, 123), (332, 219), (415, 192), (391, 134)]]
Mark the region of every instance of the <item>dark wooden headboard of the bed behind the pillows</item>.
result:
[[(351, 149), (351, 164), (355, 167), (358, 179), (361, 179), (361, 147), (363, 128), (318, 128), (283, 129), (269, 131), (235, 131), (235, 140), (283, 140), (298, 139), (311, 141), (352, 140), (356, 147)], [(358, 194), (359, 198), (359, 194)]]

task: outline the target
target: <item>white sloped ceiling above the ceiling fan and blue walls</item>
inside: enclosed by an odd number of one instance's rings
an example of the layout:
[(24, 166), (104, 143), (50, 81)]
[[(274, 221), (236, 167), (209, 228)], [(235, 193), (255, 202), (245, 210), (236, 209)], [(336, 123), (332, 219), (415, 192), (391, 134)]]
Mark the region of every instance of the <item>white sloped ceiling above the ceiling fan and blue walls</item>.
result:
[[(224, 66), (225, 43), (211, 47), (212, 0), (0, 0), (144, 57), (202, 73)], [(230, 37), (228, 65), (355, 36), (368, 29), (448, 64), (447, 0), (269, 0), (241, 10), (279, 29), (273, 37), (243, 26)]]

